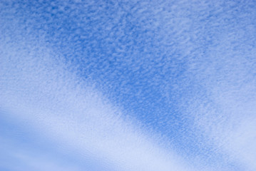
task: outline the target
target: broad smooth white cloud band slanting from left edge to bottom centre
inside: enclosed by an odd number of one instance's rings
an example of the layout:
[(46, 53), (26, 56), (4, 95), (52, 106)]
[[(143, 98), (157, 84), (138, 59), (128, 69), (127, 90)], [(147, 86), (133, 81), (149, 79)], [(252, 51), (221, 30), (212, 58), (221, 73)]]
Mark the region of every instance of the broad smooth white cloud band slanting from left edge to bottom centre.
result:
[[(1, 40), (2, 110), (13, 113), (43, 138), (81, 156), (100, 158), (100, 165), (107, 162), (113, 170), (188, 170), (178, 155), (154, 140), (155, 135), (124, 118), (120, 109), (90, 86), (93, 83), (81, 81), (53, 61), (52, 56), (58, 54), (34, 43), (33, 36), (21, 41), (22, 35), (15, 36), (11, 43)], [(26, 152), (14, 157), (33, 168), (61, 170)]]

